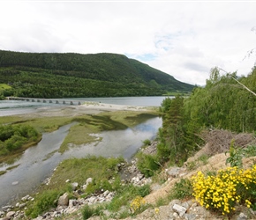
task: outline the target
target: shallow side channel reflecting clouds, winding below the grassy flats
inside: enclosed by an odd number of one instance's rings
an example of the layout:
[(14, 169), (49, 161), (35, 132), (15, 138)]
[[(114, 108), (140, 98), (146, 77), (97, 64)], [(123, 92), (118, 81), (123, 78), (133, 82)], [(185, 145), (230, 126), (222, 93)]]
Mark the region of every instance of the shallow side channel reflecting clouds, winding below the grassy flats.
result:
[[(158, 105), (159, 99), (157, 100)], [(154, 105), (156, 106), (156, 104)], [(16, 110), (10, 108), (12, 110), (10, 113), (13, 114), (14, 111), (19, 112), (19, 114), (31, 113), (38, 107), (16, 107)], [(30, 194), (66, 158), (84, 158), (88, 155), (95, 155), (103, 157), (123, 156), (127, 160), (131, 159), (144, 140), (153, 139), (156, 136), (158, 128), (162, 126), (162, 119), (154, 117), (132, 128), (104, 131), (99, 134), (99, 137), (102, 137), (101, 142), (76, 146), (61, 154), (57, 150), (72, 125), (73, 123), (54, 132), (44, 133), (41, 142), (27, 149), (17, 161), (11, 165), (0, 166), (0, 171), (4, 171), (8, 167), (17, 165), (16, 168), (8, 170), (0, 176), (0, 208), (11, 201)]]

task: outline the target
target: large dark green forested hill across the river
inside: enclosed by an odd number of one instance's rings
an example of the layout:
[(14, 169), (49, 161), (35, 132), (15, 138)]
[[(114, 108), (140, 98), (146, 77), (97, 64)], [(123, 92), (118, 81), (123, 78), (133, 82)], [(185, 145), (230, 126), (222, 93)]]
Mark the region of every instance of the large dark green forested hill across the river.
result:
[(4, 96), (34, 98), (155, 96), (191, 92), (147, 64), (117, 54), (50, 54), (0, 51)]

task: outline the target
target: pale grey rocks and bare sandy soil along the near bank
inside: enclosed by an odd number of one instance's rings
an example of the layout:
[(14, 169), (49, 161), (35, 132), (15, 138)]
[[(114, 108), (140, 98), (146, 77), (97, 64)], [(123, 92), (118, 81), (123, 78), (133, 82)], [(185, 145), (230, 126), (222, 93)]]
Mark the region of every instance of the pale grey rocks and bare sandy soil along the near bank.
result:
[[(144, 153), (155, 153), (156, 143), (152, 143), (146, 149), (141, 149)], [(204, 150), (201, 150), (204, 151)], [(199, 153), (200, 154), (200, 153)], [(223, 153), (217, 154), (212, 158), (209, 158), (207, 167), (223, 167), (225, 166), (225, 159), (228, 156), (225, 156)], [(194, 158), (196, 160), (197, 157)], [(247, 159), (245, 163), (250, 165), (254, 158)], [(192, 161), (192, 158), (190, 158)], [(216, 163), (216, 161), (218, 161)], [(145, 184), (151, 185), (152, 193), (145, 197), (145, 201), (148, 204), (155, 204), (155, 202), (164, 197), (169, 193), (169, 190), (172, 189), (173, 185), (177, 180), (181, 178), (186, 178), (191, 176), (193, 173), (197, 172), (197, 170), (206, 169), (206, 165), (200, 165), (198, 169), (191, 171), (188, 168), (188, 165), (185, 164), (184, 167), (169, 167), (162, 172), (162, 175), (167, 179), (164, 184), (153, 183), (151, 178), (145, 178), (142, 173), (139, 172), (137, 168), (137, 160), (133, 159), (130, 164), (122, 163), (118, 165), (118, 170), (122, 174), (123, 183), (124, 184), (133, 184), (135, 186), (144, 186)], [(88, 178), (83, 186), (79, 186), (78, 183), (72, 182), (72, 190), (73, 194), (77, 194), (76, 199), (69, 199), (68, 194), (62, 194), (58, 201), (57, 207), (55, 209), (50, 209), (48, 212), (44, 213), (41, 216), (37, 216), (36, 220), (42, 219), (83, 219), (81, 214), (81, 209), (85, 205), (97, 205), (102, 202), (110, 202), (115, 196), (115, 192), (109, 192), (108, 190), (102, 189), (102, 191), (97, 192), (97, 194), (91, 194), (83, 198), (81, 196), (82, 189), (85, 189), (90, 182), (92, 182), (92, 178)], [(45, 184), (49, 184), (50, 179), (45, 181)], [(66, 180), (66, 182), (70, 182), (70, 180)], [(18, 219), (28, 219), (25, 215), (26, 204), (28, 202), (33, 201), (34, 198), (30, 195), (26, 195), (21, 199), (20, 202), (17, 202), (15, 206), (5, 206), (3, 207), (3, 211), (0, 212), (0, 220), (18, 220)], [(118, 213), (115, 213), (115, 218), (111, 217), (111, 213), (109, 210), (104, 210), (104, 217), (107, 219), (118, 219)], [(105, 219), (104, 218), (104, 219)], [(91, 220), (100, 220), (101, 216), (92, 216), (89, 219)], [(203, 219), (228, 219), (224, 216), (219, 216), (216, 213), (210, 212), (207, 209), (204, 209), (199, 205), (198, 202), (194, 200), (189, 201), (181, 201), (181, 200), (173, 200), (170, 201), (168, 205), (162, 205), (157, 208), (147, 209), (144, 212), (140, 213), (137, 216), (131, 216), (125, 218), (126, 220), (138, 219), (138, 220), (147, 220), (147, 219), (161, 219), (161, 220), (175, 220), (175, 219), (185, 219), (185, 220), (203, 220)], [(256, 219), (256, 212), (252, 209), (247, 209), (245, 207), (237, 207), (237, 213), (229, 218), (232, 220), (246, 220), (246, 219)]]

